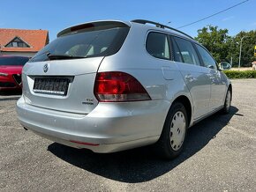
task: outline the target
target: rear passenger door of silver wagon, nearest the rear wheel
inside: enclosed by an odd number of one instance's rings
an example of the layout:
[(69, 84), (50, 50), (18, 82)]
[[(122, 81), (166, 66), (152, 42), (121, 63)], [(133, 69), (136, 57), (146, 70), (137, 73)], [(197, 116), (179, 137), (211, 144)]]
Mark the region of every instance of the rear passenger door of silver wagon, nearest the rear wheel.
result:
[(175, 36), (171, 39), (174, 60), (191, 93), (193, 118), (196, 120), (209, 111), (210, 85), (207, 84), (206, 73), (200, 66), (200, 59), (192, 42)]

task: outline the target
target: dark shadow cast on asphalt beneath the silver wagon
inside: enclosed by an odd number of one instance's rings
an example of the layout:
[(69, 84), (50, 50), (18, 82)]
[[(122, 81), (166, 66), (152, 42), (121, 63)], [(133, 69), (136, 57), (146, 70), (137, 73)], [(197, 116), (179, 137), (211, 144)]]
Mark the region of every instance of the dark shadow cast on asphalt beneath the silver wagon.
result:
[[(170, 172), (173, 168), (191, 158), (203, 149), (218, 132), (229, 124), (237, 107), (230, 107), (230, 114), (213, 114), (189, 129), (184, 151), (177, 159), (162, 160), (151, 146), (109, 154), (97, 154), (62, 144), (50, 144), (48, 150), (56, 157), (102, 177), (127, 183), (150, 181)], [(239, 114), (241, 115), (241, 114)]]

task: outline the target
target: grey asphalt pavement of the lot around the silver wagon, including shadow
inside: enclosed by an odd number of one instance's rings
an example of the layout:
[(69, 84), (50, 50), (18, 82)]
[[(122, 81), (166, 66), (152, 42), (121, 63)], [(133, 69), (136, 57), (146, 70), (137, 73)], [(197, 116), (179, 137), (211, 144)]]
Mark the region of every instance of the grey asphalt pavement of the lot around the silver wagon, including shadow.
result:
[(53, 143), (19, 124), (19, 94), (0, 92), (0, 191), (256, 191), (256, 79), (232, 83), (230, 114), (193, 126), (171, 161), (151, 147), (96, 154)]

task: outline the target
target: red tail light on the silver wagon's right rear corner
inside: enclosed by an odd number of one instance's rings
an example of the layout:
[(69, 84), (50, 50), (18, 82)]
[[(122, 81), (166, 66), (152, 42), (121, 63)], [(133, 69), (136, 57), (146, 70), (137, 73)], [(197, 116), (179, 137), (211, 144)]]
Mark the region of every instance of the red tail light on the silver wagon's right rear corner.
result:
[(151, 100), (136, 78), (124, 72), (100, 72), (94, 85), (94, 95), (102, 102)]

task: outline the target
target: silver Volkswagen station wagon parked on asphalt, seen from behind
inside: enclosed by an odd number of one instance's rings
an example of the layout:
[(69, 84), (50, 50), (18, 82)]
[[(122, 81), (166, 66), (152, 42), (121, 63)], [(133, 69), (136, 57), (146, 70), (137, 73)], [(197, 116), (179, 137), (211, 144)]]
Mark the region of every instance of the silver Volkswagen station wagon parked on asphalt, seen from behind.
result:
[(229, 113), (232, 95), (206, 48), (141, 19), (64, 29), (26, 63), (22, 81), (25, 129), (94, 152), (154, 144), (166, 159), (183, 150), (193, 124)]

